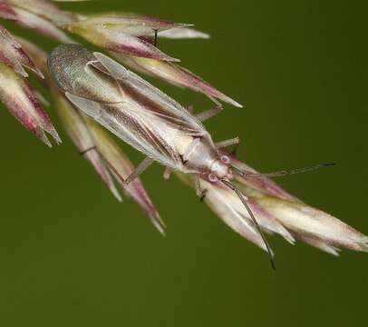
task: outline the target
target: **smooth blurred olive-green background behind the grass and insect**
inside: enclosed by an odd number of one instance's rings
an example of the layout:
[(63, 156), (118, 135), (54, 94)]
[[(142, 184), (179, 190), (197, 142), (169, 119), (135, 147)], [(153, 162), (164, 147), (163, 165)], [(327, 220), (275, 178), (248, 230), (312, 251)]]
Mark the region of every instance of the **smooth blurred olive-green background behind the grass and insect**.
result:
[[(360, 5), (359, 5), (360, 4)], [(278, 182), (368, 233), (367, 45), (363, 2), (101, 1), (79, 11), (131, 11), (197, 25), (210, 40), (161, 48), (237, 101), (208, 122), (239, 135), (261, 171), (337, 162)], [(9, 25), (7, 25), (9, 26)], [(51, 49), (53, 42), (13, 29)], [(182, 104), (204, 96), (156, 83)], [(0, 323), (28, 326), (362, 326), (368, 256), (334, 258), (279, 237), (277, 272), (178, 180), (143, 181), (168, 224), (157, 233), (130, 200), (117, 203), (63, 137), (52, 150), (0, 111)], [(122, 144), (134, 163), (141, 155)]]

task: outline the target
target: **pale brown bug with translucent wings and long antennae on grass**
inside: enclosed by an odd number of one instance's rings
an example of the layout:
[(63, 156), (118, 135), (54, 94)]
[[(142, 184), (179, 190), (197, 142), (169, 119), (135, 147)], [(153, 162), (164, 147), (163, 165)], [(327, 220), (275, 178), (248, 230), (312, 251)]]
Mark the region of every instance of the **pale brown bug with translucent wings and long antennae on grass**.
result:
[(154, 162), (166, 167), (166, 178), (172, 170), (191, 174), (199, 196), (205, 196), (206, 192), (201, 189), (200, 179), (224, 183), (246, 206), (275, 267), (272, 251), (247, 205), (247, 198), (231, 183), (234, 173), (245, 174), (231, 165), (228, 155), (219, 151), (237, 144), (238, 138), (214, 143), (202, 124), (218, 114), (220, 104), (192, 114), (110, 57), (91, 53), (81, 45), (59, 45), (49, 55), (48, 64), (54, 82), (77, 108), (147, 155), (124, 183), (131, 183)]

